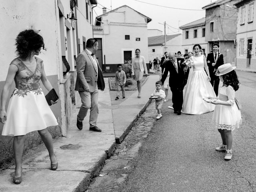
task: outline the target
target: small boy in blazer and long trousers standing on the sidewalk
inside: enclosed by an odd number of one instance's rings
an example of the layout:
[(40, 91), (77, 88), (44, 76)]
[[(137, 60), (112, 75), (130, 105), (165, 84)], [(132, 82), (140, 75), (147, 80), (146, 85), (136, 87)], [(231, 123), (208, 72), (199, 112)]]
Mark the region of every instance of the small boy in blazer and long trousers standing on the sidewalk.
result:
[(118, 64), (117, 69), (118, 69), (118, 71), (116, 72), (116, 78), (115, 78), (115, 85), (117, 88), (116, 100), (119, 99), (121, 89), (122, 89), (123, 99), (125, 98), (124, 85), (126, 83), (126, 74), (122, 70), (122, 64)]

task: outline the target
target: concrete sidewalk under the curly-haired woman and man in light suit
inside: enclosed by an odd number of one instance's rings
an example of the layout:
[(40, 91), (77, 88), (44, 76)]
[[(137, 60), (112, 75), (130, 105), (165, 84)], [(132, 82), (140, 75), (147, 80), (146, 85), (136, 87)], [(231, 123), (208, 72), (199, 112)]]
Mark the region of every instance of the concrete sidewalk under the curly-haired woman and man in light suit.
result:
[(108, 79), (106, 89), (99, 94), (97, 126), (102, 132), (89, 131), (88, 116), (83, 130), (76, 128), (76, 115), (81, 103), (73, 106), (67, 137), (54, 140), (58, 169), (50, 170), (48, 152), (38, 152), (23, 160), (22, 183), (12, 182), (15, 166), (0, 171), (0, 192), (82, 192), (90, 184), (90, 178), (99, 174), (107, 156), (116, 142), (122, 142), (139, 115), (144, 112), (155, 89), (158, 75), (150, 75), (142, 86), (142, 97), (134, 92), (119, 105), (112, 106)]

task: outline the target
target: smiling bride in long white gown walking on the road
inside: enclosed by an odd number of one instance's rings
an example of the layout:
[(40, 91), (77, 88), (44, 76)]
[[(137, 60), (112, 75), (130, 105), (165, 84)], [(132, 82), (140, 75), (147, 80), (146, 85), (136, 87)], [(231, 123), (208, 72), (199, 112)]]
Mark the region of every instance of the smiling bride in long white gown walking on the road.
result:
[(189, 73), (188, 82), (183, 90), (182, 113), (199, 115), (214, 110), (214, 105), (207, 103), (203, 98), (216, 97), (216, 94), (210, 84), (210, 75), (206, 63), (206, 57), (200, 54), (201, 46), (195, 44), (193, 47), (194, 56), (190, 58), (194, 62), (193, 71)]

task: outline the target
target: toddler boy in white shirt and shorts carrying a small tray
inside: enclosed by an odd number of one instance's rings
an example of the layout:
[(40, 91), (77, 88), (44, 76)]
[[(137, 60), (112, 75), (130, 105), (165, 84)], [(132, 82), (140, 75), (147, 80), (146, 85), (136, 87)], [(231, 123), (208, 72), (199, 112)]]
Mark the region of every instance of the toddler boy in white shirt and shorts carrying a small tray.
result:
[(157, 109), (157, 112), (158, 112), (158, 115), (156, 116), (156, 119), (160, 119), (162, 117), (161, 108), (163, 106), (164, 98), (165, 98), (165, 93), (161, 89), (161, 86), (162, 86), (162, 82), (157, 81), (156, 82), (156, 90), (154, 90), (154, 92), (150, 95), (150, 97), (158, 96), (158, 98), (155, 99), (156, 100), (156, 109)]

